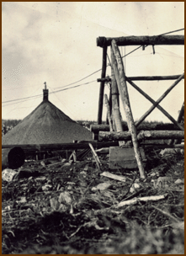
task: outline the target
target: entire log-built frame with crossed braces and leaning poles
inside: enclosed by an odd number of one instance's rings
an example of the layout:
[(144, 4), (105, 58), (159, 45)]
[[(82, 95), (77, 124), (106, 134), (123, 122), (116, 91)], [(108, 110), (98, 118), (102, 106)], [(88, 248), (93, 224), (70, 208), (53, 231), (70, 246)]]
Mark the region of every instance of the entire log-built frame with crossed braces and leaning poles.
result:
[[(163, 109), (159, 104), (164, 99), (167, 94), (184, 78), (184, 73), (181, 75), (173, 75), (173, 76), (151, 76), (151, 77), (126, 77), (124, 71), (124, 64), (122, 61), (122, 57), (120, 56), (120, 50), (118, 48), (119, 45), (141, 45), (142, 49), (144, 50), (147, 45), (151, 45), (153, 49), (153, 53), (155, 54), (155, 45), (184, 45), (184, 36), (183, 35), (156, 35), (156, 36), (126, 36), (126, 37), (117, 37), (117, 38), (105, 38), (105, 37), (98, 37), (97, 38), (97, 46), (103, 48), (103, 69), (101, 78), (98, 79), (98, 82), (101, 83), (100, 85), (100, 92), (99, 93), (99, 103), (98, 103), (98, 125), (92, 125), (91, 129), (94, 133), (94, 137), (98, 138), (100, 141), (132, 141), (136, 162), (140, 171), (141, 178), (145, 178), (146, 174), (144, 172), (143, 164), (141, 161), (141, 154), (138, 147), (138, 142), (141, 140), (157, 140), (160, 138), (167, 139), (173, 138), (177, 139), (180, 142), (184, 137), (184, 127), (181, 124), (180, 119), (181, 116), (183, 118), (183, 107), (180, 111), (180, 115), (178, 120), (174, 120), (173, 117), (167, 113), (165, 109)], [(106, 70), (106, 49), (110, 46), (111, 49), (111, 78), (105, 77), (105, 70)], [(140, 48), (140, 47), (139, 47)], [(176, 80), (167, 91), (162, 94), (162, 96), (155, 101), (151, 99), (151, 97), (143, 92), (141, 88), (139, 88), (136, 83), (133, 81), (156, 81), (156, 80)], [(112, 109), (111, 115), (112, 123), (114, 131), (111, 126), (109, 125), (101, 125), (101, 114), (103, 108), (103, 98), (104, 98), (104, 83), (111, 82), (111, 97), (112, 97)], [(133, 115), (130, 109), (130, 99), (127, 90), (127, 84), (129, 83), (133, 88), (136, 88), (138, 92), (140, 92), (146, 99), (151, 102), (151, 108), (146, 111), (144, 115), (135, 123), (133, 120)], [(125, 116), (127, 121), (126, 125), (122, 125), (119, 120), (120, 113), (120, 104), (119, 104), (119, 93), (120, 93), (120, 100), (125, 110)], [(167, 131), (141, 131), (141, 122), (146, 119), (146, 116), (150, 115), (153, 109), (159, 109), (162, 111), (164, 115), (167, 116), (173, 124), (169, 124), (172, 126), (171, 131), (167, 129)], [(116, 112), (116, 109), (118, 112)], [(117, 114), (117, 115), (116, 115)], [(119, 120), (116, 124), (116, 120)], [(109, 124), (111, 121), (109, 120)], [(119, 126), (120, 125), (120, 126)], [(118, 127), (117, 127), (118, 126)], [(125, 127), (124, 127), (125, 126)], [(120, 127), (120, 128), (119, 128)], [(153, 127), (151, 127), (152, 130)], [(155, 128), (156, 129), (156, 128)], [(109, 130), (109, 131), (108, 131)], [(126, 131), (127, 130), (127, 131)], [(149, 129), (147, 129), (149, 130)], [(158, 130), (158, 129), (157, 129)], [(162, 129), (164, 130), (164, 128)], [(126, 134), (126, 132), (128, 132)], [(172, 140), (173, 144), (173, 140)], [(121, 145), (120, 145), (121, 146)], [(121, 146), (122, 147), (122, 146)]]

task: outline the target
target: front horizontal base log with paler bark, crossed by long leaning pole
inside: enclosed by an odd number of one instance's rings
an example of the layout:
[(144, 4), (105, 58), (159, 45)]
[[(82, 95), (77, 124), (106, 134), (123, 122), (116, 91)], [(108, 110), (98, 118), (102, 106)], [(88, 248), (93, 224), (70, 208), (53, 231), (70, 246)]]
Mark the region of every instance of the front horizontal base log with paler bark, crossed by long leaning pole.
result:
[[(137, 140), (184, 139), (184, 131), (140, 131)], [(130, 131), (99, 131), (99, 141), (131, 141)]]

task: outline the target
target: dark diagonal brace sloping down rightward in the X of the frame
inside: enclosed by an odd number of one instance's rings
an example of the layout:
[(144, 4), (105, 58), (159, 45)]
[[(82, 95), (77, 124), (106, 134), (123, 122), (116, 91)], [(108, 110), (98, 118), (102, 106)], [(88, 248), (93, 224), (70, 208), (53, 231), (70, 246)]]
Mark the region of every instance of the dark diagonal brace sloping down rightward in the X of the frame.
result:
[[(128, 83), (130, 83), (131, 86), (133, 86), (134, 88), (136, 88), (136, 90), (137, 90), (139, 93), (141, 93), (144, 97), (146, 97), (146, 99), (148, 99), (149, 101), (151, 101), (152, 104), (156, 105), (156, 101), (155, 101), (155, 100), (151, 99), (151, 97), (150, 97), (148, 94), (146, 94), (143, 90), (141, 90), (141, 88), (139, 88), (135, 83), (133, 83), (128, 77), (125, 77), (125, 78), (126, 78), (126, 81), (127, 81)], [(162, 113), (163, 113), (164, 115), (166, 115), (167, 118), (168, 118), (169, 120), (171, 120), (174, 125), (177, 125), (180, 130), (184, 131), (184, 128), (182, 127), (182, 125), (179, 125), (178, 122), (173, 118), (173, 116), (169, 115), (165, 109), (163, 109), (160, 105), (157, 105), (157, 109), (159, 109), (160, 111), (162, 111)], [(139, 121), (136, 122), (136, 127), (137, 127), (138, 125), (140, 125)]]

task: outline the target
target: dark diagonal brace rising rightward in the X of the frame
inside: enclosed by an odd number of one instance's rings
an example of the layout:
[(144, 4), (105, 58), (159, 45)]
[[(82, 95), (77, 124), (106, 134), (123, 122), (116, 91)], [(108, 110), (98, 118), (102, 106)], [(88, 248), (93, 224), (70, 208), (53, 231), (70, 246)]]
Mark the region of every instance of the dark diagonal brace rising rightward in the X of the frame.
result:
[[(153, 104), (150, 109), (146, 111), (144, 115), (141, 116), (140, 120), (136, 122), (136, 126), (140, 125), (143, 120), (146, 119), (146, 116), (151, 114), (151, 111), (157, 107), (157, 105), (167, 96), (167, 93), (170, 93), (170, 91), (183, 79), (184, 73), (169, 87), (167, 88), (167, 91), (162, 94), (162, 96), (157, 99), (156, 104)], [(177, 123), (178, 124), (178, 123)], [(180, 126), (180, 129), (183, 130), (183, 127)]]

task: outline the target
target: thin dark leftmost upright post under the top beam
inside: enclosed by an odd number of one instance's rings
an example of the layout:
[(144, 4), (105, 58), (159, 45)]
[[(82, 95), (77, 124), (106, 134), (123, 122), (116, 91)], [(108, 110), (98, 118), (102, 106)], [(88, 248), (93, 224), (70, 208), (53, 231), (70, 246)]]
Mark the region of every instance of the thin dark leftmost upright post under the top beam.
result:
[[(102, 73), (101, 78), (105, 77), (107, 67), (107, 46), (103, 48), (103, 62), (102, 62)], [(99, 88), (99, 99), (98, 99), (98, 125), (102, 123), (102, 112), (104, 102), (104, 81), (101, 82)]]

